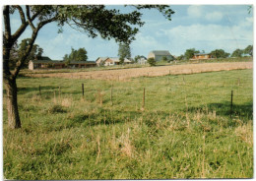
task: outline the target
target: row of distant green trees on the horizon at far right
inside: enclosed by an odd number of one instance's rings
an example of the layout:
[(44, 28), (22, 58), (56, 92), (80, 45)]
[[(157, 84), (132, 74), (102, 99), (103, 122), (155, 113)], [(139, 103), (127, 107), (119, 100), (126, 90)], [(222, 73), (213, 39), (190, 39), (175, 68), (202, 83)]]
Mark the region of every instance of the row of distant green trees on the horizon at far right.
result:
[[(189, 60), (196, 53), (205, 53), (205, 51), (199, 51), (195, 48), (190, 48), (185, 51), (184, 54), (177, 57), (177, 60)], [(216, 49), (209, 53), (213, 58), (227, 58), (227, 57), (242, 57), (245, 55), (253, 56), (253, 45), (248, 45), (244, 49), (235, 49), (231, 54), (224, 51), (224, 49)]]

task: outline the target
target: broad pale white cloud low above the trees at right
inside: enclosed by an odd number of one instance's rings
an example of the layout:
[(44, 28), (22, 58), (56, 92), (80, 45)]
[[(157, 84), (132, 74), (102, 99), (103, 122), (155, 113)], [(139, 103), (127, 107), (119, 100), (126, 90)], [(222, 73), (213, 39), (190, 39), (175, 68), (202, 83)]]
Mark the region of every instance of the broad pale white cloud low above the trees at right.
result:
[(233, 51), (236, 48), (245, 48), (253, 43), (252, 30), (241, 26), (202, 25), (178, 26), (165, 30), (165, 35), (172, 42), (171, 48), (175, 53), (184, 53), (188, 48), (212, 51), (222, 48)]

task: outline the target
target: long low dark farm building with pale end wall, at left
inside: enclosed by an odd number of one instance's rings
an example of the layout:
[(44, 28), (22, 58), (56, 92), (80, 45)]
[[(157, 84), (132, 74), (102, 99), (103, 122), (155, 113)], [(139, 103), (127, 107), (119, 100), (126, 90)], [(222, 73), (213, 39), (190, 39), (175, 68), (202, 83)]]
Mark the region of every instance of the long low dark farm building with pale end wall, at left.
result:
[(63, 68), (88, 68), (96, 67), (95, 61), (71, 61), (66, 65), (63, 61), (53, 60), (31, 60), (29, 62), (29, 69), (63, 69)]

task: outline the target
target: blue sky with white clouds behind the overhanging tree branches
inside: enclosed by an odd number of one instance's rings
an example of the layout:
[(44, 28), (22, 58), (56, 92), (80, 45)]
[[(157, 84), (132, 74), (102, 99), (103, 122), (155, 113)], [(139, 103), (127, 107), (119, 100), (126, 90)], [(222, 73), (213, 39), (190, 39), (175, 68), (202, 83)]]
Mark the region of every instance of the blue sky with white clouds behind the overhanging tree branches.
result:
[[(120, 8), (123, 6), (109, 6)], [(186, 49), (195, 48), (210, 52), (224, 49), (231, 53), (253, 44), (253, 13), (248, 14), (248, 5), (170, 5), (175, 11), (172, 21), (167, 21), (156, 10), (144, 10), (142, 20), (146, 22), (131, 43), (132, 57), (148, 56), (152, 50), (169, 50), (173, 55), (180, 55)], [(17, 30), (20, 18), (11, 17), (12, 30)], [(54, 60), (62, 60), (71, 52), (71, 47), (85, 47), (89, 60), (100, 56), (115, 57), (118, 44), (112, 40), (104, 40), (100, 36), (88, 37), (87, 34), (64, 27), (63, 33), (57, 33), (55, 24), (46, 25), (39, 31), (35, 40), (43, 48), (44, 56)], [(19, 40), (31, 36), (28, 29)]]

